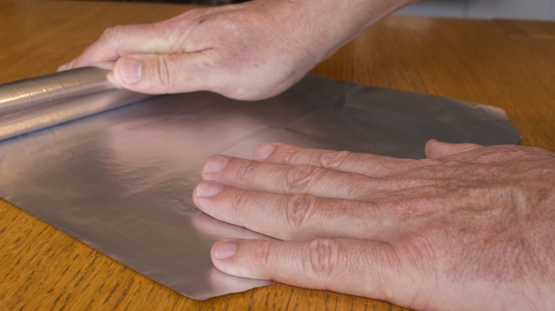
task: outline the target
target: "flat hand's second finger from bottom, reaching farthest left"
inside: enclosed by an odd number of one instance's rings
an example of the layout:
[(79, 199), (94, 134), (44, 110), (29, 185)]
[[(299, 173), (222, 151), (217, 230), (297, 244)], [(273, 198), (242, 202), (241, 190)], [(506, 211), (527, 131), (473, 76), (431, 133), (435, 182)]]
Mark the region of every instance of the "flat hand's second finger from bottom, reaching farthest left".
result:
[[(201, 211), (230, 224), (282, 240), (307, 240), (319, 236), (392, 239), (410, 227), (391, 204), (383, 207), (371, 202), (279, 195), (245, 191), (217, 182), (201, 182), (193, 201)], [(412, 215), (413, 219), (417, 217)], [(261, 221), (264, 219), (264, 221)], [(404, 221), (403, 221), (404, 220)]]

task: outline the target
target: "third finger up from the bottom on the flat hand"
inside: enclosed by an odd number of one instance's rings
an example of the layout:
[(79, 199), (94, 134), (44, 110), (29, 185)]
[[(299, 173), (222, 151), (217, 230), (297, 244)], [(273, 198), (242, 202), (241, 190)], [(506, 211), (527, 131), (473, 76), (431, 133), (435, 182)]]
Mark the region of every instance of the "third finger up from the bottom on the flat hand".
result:
[(404, 178), (371, 178), (313, 165), (261, 163), (216, 155), (203, 165), (204, 180), (214, 180), (245, 190), (288, 195), (308, 193), (318, 197), (366, 200), (381, 191), (395, 191), (435, 184), (413, 175)]

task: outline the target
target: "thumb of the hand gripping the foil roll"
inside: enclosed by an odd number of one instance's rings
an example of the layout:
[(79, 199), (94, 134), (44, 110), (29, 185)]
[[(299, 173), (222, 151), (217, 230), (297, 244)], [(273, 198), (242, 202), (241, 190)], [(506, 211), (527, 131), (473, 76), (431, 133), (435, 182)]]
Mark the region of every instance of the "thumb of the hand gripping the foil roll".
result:
[(126, 55), (115, 62), (108, 79), (118, 87), (147, 94), (208, 90), (211, 70), (199, 57), (198, 53)]

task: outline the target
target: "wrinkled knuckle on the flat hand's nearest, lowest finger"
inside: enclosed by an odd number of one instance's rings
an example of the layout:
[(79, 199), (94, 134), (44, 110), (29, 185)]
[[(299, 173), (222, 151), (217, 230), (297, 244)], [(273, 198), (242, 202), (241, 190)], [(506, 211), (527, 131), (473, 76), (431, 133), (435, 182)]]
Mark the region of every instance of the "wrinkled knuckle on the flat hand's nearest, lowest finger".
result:
[(334, 278), (339, 264), (339, 243), (334, 239), (314, 239), (307, 244), (303, 270), (323, 280)]

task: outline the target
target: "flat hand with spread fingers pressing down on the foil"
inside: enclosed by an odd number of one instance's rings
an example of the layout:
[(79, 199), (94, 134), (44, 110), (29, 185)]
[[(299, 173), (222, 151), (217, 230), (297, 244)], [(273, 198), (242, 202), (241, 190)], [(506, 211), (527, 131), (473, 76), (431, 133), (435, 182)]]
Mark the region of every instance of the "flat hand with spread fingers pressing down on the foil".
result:
[(194, 202), (283, 241), (213, 245), (216, 268), (417, 309), (555, 303), (555, 153), (429, 141), (408, 160), (268, 143), (216, 155)]

